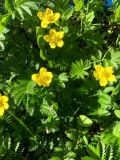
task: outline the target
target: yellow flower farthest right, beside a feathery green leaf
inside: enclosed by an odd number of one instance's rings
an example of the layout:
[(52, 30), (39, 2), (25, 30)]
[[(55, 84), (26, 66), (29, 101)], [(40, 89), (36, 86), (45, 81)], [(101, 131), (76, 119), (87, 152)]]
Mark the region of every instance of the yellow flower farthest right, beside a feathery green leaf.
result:
[(106, 86), (108, 82), (116, 81), (116, 77), (113, 75), (112, 67), (102, 67), (100, 65), (96, 65), (93, 75), (99, 80), (100, 86)]

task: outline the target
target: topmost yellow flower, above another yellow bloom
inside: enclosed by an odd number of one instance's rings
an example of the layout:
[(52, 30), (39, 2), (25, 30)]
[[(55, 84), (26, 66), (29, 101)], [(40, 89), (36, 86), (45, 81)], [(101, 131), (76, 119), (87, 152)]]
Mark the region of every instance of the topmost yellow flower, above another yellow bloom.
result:
[(42, 20), (41, 27), (47, 28), (48, 24), (55, 23), (60, 18), (60, 13), (53, 13), (51, 9), (47, 8), (45, 12), (39, 11), (37, 16)]

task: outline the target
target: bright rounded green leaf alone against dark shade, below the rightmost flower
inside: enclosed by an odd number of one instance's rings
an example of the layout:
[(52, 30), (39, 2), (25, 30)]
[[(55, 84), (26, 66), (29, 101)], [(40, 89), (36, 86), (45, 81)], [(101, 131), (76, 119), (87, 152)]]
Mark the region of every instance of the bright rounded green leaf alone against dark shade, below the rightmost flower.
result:
[(82, 127), (90, 127), (93, 124), (93, 121), (85, 115), (80, 115), (77, 122)]

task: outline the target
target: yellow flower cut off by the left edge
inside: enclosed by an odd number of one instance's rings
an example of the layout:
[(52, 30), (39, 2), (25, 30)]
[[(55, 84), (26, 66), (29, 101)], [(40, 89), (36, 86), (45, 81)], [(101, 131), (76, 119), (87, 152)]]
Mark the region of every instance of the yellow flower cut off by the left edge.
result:
[(8, 100), (9, 98), (7, 96), (2, 96), (0, 94), (0, 116), (2, 116), (4, 111), (9, 108)]

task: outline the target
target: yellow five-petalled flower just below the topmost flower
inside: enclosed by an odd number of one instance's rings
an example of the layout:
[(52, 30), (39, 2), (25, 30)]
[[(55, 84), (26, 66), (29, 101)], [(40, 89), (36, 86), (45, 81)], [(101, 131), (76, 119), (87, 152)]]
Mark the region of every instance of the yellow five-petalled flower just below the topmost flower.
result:
[(51, 29), (49, 31), (49, 35), (45, 35), (43, 38), (46, 42), (49, 43), (51, 48), (55, 48), (56, 46), (62, 47), (64, 42), (62, 38), (64, 37), (63, 31), (56, 31), (56, 29)]

